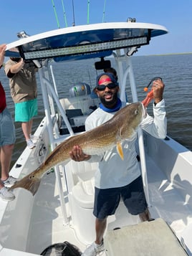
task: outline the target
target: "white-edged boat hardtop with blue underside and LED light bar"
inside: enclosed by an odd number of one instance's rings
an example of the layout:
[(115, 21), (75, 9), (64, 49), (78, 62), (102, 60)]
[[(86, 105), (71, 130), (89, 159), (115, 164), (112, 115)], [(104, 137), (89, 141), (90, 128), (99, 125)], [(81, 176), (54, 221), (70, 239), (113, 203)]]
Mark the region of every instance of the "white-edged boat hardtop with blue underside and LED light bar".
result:
[(80, 60), (106, 57), (115, 49), (149, 44), (151, 37), (168, 33), (157, 24), (112, 22), (55, 29), (7, 44), (6, 56), (24, 60)]

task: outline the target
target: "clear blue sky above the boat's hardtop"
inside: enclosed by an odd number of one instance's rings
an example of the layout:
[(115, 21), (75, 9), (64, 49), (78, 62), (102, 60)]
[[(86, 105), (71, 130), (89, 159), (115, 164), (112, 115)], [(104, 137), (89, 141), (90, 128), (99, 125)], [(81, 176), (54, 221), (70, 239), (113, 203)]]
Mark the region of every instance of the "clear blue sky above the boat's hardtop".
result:
[(77, 26), (132, 17), (168, 29), (138, 49), (138, 55), (192, 52), (192, 0), (2, 0), (0, 10), (0, 44), (16, 41), (21, 31), (34, 35), (71, 27), (74, 21)]

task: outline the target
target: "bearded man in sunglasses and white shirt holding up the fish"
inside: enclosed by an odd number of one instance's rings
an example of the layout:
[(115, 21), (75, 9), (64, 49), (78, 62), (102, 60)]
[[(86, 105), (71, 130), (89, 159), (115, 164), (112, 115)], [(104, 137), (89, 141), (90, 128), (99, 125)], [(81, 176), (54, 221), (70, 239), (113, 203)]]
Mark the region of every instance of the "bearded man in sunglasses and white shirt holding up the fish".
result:
[[(153, 82), (153, 115), (146, 114), (140, 123), (140, 128), (156, 138), (166, 136), (165, 101), (163, 100), (164, 84), (160, 79)], [(100, 108), (97, 108), (86, 120), (86, 131), (90, 131), (107, 122), (115, 113), (123, 108), (123, 103), (117, 97), (119, 86), (111, 73), (97, 76), (94, 92), (100, 98)], [(115, 127), (114, 127), (115, 129)], [(108, 131), (105, 131), (106, 133)], [(95, 242), (87, 247), (82, 256), (94, 256), (104, 250), (103, 234), (107, 224), (107, 216), (115, 214), (115, 210), (123, 199), (128, 212), (139, 215), (141, 221), (150, 219), (150, 212), (145, 199), (140, 166), (135, 150), (137, 134), (134, 133), (117, 147), (110, 148), (100, 155), (83, 153), (80, 145), (76, 145), (69, 153), (74, 161), (98, 162), (95, 174)], [(121, 157), (120, 157), (121, 156)], [(122, 161), (123, 158), (124, 160)]]

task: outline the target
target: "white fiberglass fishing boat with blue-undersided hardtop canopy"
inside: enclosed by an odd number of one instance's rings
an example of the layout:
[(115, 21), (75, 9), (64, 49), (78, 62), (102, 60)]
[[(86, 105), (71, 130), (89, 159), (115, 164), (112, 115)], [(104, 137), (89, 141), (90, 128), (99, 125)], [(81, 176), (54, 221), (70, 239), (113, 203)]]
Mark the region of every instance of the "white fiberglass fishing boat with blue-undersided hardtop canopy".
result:
[[(167, 32), (157, 24), (102, 23), (31, 37), (21, 33), (19, 40), (7, 44), (6, 56), (21, 56), (39, 67), (45, 112), (35, 132), (39, 136), (37, 146), (21, 153), (11, 175), (21, 179), (37, 169), (59, 143), (83, 133), (85, 119), (92, 112), (90, 106), (98, 106), (98, 99), (90, 97), (85, 85), (76, 87), (80, 90), (74, 97), (59, 98), (53, 63), (90, 59), (95, 69), (102, 70), (110, 65), (105, 58), (113, 57), (121, 100), (125, 101), (129, 77), (136, 102), (131, 56), (153, 37)], [(102, 255), (192, 255), (192, 153), (168, 137), (156, 139), (139, 131), (138, 138), (145, 194), (155, 220), (139, 223), (120, 202), (115, 215), (107, 219)], [(55, 166), (44, 175), (35, 196), (15, 189), (14, 201), (0, 200), (0, 255), (40, 255), (49, 245), (64, 241), (83, 252), (95, 240), (92, 209), (96, 166), (75, 161)]]

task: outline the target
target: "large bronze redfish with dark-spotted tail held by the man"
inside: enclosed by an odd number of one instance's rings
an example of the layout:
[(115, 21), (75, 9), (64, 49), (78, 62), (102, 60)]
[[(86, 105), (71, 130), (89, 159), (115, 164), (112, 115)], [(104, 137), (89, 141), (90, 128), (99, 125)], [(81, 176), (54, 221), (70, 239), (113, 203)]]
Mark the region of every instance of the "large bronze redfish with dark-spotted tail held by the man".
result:
[(71, 158), (69, 152), (72, 151), (73, 146), (78, 145), (82, 151), (87, 155), (99, 155), (110, 148), (117, 146), (117, 152), (123, 159), (123, 150), (121, 142), (133, 136), (135, 130), (138, 128), (143, 119), (143, 104), (132, 103), (119, 110), (106, 123), (93, 128), (90, 131), (81, 133), (67, 138), (57, 148), (50, 153), (47, 159), (39, 166), (38, 169), (32, 171), (23, 179), (18, 181), (10, 189), (23, 188), (32, 192), (34, 195), (39, 188), (42, 176), (58, 163), (68, 163)]

